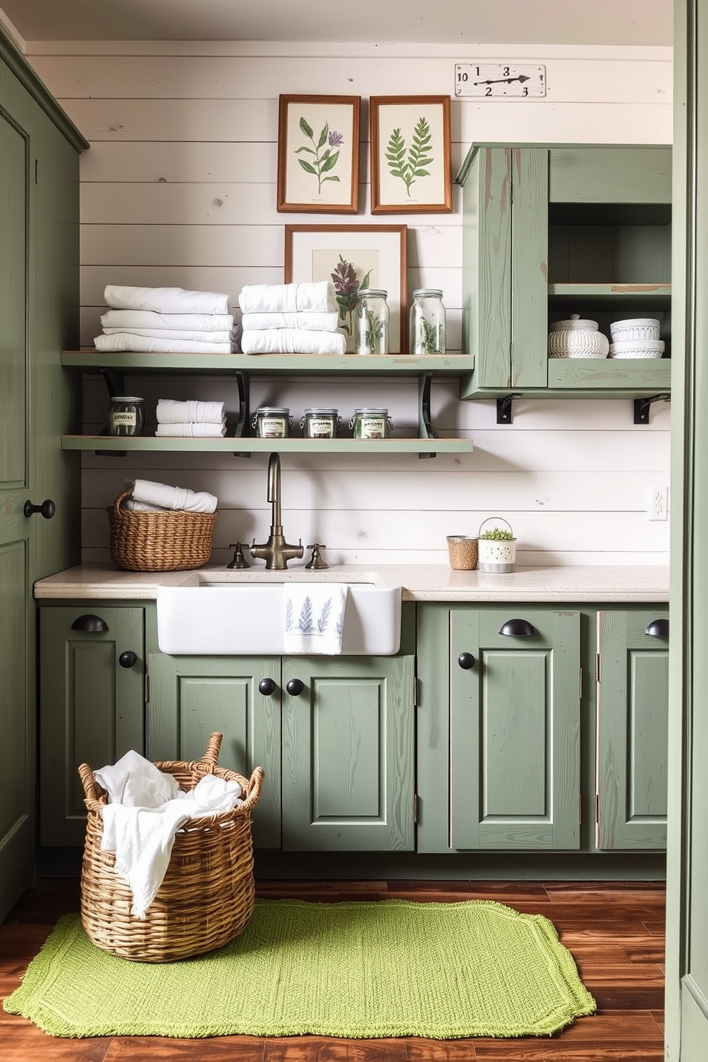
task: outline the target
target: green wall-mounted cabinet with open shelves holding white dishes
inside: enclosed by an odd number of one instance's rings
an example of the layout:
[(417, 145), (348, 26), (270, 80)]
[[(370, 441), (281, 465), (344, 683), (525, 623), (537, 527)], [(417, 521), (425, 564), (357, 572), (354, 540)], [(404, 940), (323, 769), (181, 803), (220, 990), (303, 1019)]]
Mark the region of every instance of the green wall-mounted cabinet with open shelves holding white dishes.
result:
[[(671, 149), (479, 144), (463, 185), (463, 397), (626, 397), (671, 377)], [(655, 318), (663, 358), (550, 358), (572, 314)]]

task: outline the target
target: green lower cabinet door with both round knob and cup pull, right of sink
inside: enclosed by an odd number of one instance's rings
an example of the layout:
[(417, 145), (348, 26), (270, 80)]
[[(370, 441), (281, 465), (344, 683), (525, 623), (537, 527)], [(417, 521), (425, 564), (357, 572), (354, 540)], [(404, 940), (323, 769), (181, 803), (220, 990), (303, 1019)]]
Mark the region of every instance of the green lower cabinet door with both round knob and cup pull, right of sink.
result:
[(579, 847), (580, 614), (453, 609), (449, 668), (451, 846)]

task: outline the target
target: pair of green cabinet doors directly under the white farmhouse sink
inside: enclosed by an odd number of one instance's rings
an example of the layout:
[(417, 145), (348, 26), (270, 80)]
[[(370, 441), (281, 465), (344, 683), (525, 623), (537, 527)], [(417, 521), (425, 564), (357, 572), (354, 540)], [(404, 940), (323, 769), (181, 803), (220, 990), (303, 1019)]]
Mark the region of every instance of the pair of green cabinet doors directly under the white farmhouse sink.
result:
[(149, 655), (151, 759), (265, 771), (257, 847), (412, 850), (414, 658)]

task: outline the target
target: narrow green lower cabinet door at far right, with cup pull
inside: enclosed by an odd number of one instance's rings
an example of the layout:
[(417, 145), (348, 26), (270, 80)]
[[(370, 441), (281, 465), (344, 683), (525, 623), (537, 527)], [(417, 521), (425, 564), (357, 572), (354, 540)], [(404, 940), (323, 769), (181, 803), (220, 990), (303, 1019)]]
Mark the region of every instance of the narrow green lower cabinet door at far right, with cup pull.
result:
[(598, 847), (667, 843), (668, 613), (598, 614)]

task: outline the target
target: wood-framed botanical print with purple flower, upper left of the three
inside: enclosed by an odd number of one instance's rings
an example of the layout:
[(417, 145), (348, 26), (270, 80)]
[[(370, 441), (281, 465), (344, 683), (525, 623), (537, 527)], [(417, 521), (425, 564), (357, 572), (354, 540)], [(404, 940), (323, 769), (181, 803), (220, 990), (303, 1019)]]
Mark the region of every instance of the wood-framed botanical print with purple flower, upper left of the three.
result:
[(359, 96), (280, 96), (277, 209), (357, 213)]

